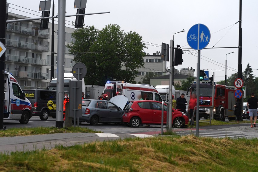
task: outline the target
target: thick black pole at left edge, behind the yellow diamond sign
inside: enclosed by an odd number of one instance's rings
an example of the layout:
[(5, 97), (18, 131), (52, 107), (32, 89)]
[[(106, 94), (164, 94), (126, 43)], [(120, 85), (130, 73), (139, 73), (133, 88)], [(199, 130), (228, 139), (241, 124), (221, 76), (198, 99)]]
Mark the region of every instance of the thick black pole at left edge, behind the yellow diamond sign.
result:
[[(0, 2), (0, 41), (5, 45), (6, 30), (6, 0)], [(4, 80), (5, 80), (5, 53), (0, 57), (0, 130), (4, 128)], [(6, 95), (7, 96), (7, 95)]]

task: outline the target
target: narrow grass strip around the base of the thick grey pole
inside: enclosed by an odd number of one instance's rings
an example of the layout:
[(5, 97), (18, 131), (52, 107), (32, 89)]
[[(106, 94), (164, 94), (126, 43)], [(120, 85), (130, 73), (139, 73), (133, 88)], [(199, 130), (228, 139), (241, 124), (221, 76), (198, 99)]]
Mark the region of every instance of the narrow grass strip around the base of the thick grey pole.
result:
[(0, 137), (12, 136), (29, 136), (37, 134), (54, 134), (54, 133), (99, 133), (84, 127), (69, 127), (69, 128), (56, 128), (56, 127), (33, 127), (33, 128), (11, 128), (8, 130), (1, 130)]

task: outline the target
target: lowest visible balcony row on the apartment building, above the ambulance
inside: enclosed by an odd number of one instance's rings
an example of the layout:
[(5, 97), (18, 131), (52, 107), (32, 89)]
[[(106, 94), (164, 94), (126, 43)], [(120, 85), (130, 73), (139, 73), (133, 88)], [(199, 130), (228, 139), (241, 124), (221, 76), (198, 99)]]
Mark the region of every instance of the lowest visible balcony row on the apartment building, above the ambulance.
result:
[(5, 70), (5, 71), (10, 72), (16, 78), (46, 80), (48, 76), (48, 74), (45, 74), (45, 73), (36, 73), (36, 72), (28, 72), (28, 71), (15, 71), (15, 70)]

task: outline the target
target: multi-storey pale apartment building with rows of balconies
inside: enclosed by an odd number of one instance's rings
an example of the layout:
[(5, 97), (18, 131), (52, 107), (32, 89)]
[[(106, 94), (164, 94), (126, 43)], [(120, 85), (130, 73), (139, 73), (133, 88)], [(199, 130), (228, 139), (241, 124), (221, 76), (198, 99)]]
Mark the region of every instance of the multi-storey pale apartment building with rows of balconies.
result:
[[(9, 13), (8, 20), (28, 18)], [(51, 21), (51, 20), (50, 20)], [(57, 22), (56, 22), (57, 23)], [(51, 34), (52, 24), (47, 30), (40, 30), (40, 20), (7, 23), (5, 46), (5, 71), (11, 72), (22, 89), (46, 88), (50, 82), (51, 65)], [(57, 71), (57, 40), (58, 26), (55, 24), (55, 57), (54, 65)], [(65, 45), (74, 41), (71, 33), (74, 28), (65, 28)], [(69, 49), (65, 46), (65, 53)], [(65, 72), (71, 72), (74, 65), (73, 55), (65, 54)]]

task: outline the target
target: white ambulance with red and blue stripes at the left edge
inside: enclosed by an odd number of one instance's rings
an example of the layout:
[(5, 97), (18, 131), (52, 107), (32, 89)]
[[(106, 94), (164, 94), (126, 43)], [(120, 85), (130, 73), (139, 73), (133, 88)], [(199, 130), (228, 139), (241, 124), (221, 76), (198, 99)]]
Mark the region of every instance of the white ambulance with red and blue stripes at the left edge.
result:
[(21, 124), (28, 124), (30, 118), (30, 101), (25, 97), (14, 76), (5, 71), (4, 120), (19, 120)]

